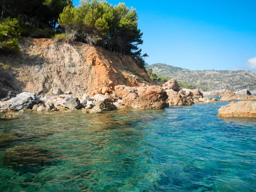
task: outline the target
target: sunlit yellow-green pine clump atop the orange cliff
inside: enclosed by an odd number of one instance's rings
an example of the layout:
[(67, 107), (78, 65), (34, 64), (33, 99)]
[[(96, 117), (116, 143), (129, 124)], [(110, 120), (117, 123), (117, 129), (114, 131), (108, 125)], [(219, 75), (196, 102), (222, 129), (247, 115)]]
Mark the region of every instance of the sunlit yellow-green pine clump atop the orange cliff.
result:
[(77, 41), (103, 47), (119, 54), (131, 55), (137, 58), (143, 67), (144, 61), (141, 49), (143, 33), (138, 29), (138, 15), (135, 9), (119, 3), (117, 6), (107, 1), (86, 0), (78, 8), (67, 6), (58, 20), (65, 29), (66, 35), (71, 35)]

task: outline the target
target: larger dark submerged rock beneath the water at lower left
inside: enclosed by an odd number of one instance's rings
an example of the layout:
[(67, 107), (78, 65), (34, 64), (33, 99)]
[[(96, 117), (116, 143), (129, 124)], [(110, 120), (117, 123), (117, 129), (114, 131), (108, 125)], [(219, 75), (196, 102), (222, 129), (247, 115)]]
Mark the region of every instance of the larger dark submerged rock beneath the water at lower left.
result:
[(20, 145), (6, 149), (3, 164), (13, 166), (21, 172), (38, 172), (44, 166), (52, 166), (57, 163), (55, 157), (46, 149), (32, 145)]

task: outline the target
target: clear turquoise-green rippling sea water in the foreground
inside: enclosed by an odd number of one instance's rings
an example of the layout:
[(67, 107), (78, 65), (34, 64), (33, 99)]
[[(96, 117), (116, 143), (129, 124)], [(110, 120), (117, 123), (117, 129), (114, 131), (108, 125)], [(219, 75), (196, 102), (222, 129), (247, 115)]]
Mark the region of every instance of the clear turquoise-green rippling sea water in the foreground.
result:
[(0, 191), (256, 191), (256, 121), (219, 118), (227, 103), (2, 120)]

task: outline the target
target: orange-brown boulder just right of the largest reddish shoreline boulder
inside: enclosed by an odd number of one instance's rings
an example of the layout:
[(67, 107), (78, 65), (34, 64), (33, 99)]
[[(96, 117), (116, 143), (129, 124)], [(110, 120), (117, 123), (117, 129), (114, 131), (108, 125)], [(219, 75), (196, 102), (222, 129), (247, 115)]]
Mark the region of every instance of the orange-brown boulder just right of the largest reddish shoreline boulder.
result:
[(183, 105), (192, 105), (192, 98), (187, 97), (186, 95), (180, 94), (172, 89), (167, 89), (166, 93), (168, 99), (166, 102), (169, 103), (169, 106), (183, 106)]

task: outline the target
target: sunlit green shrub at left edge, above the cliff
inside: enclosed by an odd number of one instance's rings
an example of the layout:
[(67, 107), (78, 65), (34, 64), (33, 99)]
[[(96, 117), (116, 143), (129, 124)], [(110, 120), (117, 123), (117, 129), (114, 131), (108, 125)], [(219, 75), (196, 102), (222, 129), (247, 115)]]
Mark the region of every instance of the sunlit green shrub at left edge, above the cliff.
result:
[(0, 22), (0, 49), (20, 50), (18, 38), (20, 38), (20, 26), (17, 19), (7, 18)]

